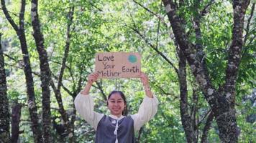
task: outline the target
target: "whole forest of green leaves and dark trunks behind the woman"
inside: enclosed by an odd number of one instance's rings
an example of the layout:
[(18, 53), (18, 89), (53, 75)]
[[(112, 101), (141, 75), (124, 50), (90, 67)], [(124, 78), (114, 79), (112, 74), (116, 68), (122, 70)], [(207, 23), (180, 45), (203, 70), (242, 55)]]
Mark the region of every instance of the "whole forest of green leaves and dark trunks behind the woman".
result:
[[(160, 101), (137, 142), (255, 142), (255, 1), (1, 0), (0, 142), (93, 142), (73, 100), (97, 52), (139, 52)], [(139, 79), (101, 79), (129, 114)]]

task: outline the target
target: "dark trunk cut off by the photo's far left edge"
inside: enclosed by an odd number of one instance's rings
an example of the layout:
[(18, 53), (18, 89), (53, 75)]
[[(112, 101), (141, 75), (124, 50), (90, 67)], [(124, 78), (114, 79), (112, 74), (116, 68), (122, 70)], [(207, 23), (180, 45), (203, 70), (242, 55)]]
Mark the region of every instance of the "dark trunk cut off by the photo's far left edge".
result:
[(10, 114), (9, 101), (7, 98), (6, 74), (4, 68), (4, 54), (1, 48), (0, 33), (0, 142), (10, 142)]

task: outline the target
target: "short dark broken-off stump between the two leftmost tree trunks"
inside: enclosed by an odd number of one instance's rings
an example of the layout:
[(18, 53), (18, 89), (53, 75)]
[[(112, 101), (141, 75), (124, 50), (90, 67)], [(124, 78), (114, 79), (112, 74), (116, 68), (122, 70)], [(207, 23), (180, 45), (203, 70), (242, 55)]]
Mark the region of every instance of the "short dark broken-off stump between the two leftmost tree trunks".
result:
[(17, 143), (19, 139), (19, 122), (22, 106), (17, 102), (12, 107), (12, 143)]

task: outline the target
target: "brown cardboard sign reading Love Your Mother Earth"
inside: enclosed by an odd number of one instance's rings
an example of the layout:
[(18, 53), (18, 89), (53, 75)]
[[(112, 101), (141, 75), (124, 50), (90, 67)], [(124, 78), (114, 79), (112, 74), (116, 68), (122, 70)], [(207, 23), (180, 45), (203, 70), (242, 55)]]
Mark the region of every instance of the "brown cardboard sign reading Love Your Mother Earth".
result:
[(99, 78), (140, 77), (140, 54), (127, 52), (97, 53), (96, 73)]

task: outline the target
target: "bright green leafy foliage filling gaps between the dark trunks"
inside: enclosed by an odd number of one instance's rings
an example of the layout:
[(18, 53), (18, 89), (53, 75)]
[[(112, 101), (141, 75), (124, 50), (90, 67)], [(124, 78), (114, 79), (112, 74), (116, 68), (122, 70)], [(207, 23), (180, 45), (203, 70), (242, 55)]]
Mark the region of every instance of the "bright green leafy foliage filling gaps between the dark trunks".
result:
[[(25, 11), (25, 29), (27, 44), (29, 47), (29, 58), (32, 71), (40, 74), (39, 59), (32, 37), (32, 26), (30, 17), (30, 1), (27, 1)], [(145, 124), (140, 134), (140, 142), (186, 142), (183, 126), (180, 119), (180, 93), (178, 75), (173, 66), (168, 64), (162, 56), (152, 49), (151, 44), (163, 53), (173, 65), (178, 68), (178, 58), (176, 53), (173, 33), (165, 15), (165, 9), (161, 1), (137, 0), (142, 6), (147, 7), (154, 14), (142, 8), (134, 1), (40, 1), (40, 23), (42, 33), (45, 38), (45, 49), (49, 58), (50, 69), (53, 77), (58, 77), (63, 60), (66, 44), (67, 25), (70, 27), (70, 51), (63, 74), (63, 85), (72, 93), (77, 94), (80, 88), (86, 83), (86, 77), (94, 70), (94, 56), (101, 51), (135, 51), (142, 55), (142, 71), (150, 77), (150, 87), (155, 96), (160, 101), (158, 112), (154, 119)], [(193, 30), (193, 18), (209, 1), (185, 1), (180, 5), (178, 15), (182, 16), (184, 29), (188, 32), (189, 41), (192, 44), (200, 43), (206, 53), (206, 66), (209, 77), (215, 87), (224, 84), (225, 69), (227, 66), (227, 50), (232, 41), (232, 5), (230, 1), (216, 1), (209, 7), (209, 12), (201, 18), (202, 39), (196, 41), (196, 34)], [(68, 13), (74, 6), (73, 21), (70, 21)], [(18, 24), (20, 1), (10, 1), (7, 8), (11, 11), (12, 18)], [(246, 21), (249, 18), (250, 9), (247, 11)], [(22, 107), (22, 122), (20, 130), (21, 142), (33, 142), (32, 131), (29, 122), (29, 112), (27, 109), (27, 93), (24, 71), (22, 70), (22, 52), (20, 50), (17, 34), (10, 26), (9, 22), (0, 13), (0, 31), (4, 34), (3, 45), (9, 59), (5, 56), (6, 70), (8, 70), (8, 96), (10, 100), (18, 100), (24, 104)], [(158, 27), (159, 26), (159, 27)], [(237, 124), (241, 129), (239, 141), (249, 142), (255, 137), (255, 122), (246, 122), (246, 118), (255, 113), (252, 104), (243, 102), (243, 98), (251, 94), (255, 88), (255, 17), (253, 17), (250, 29), (247, 31), (247, 42), (242, 51), (242, 61), (239, 65), (239, 77), (237, 79)], [(133, 29), (140, 31), (141, 37)], [(33, 74), (35, 82), (36, 102), (38, 112), (41, 114), (41, 89), (40, 77)], [(55, 78), (54, 82), (57, 84)], [(199, 119), (203, 119), (209, 111), (209, 105), (204, 99), (204, 95), (194, 82), (189, 67), (187, 67), (188, 84), (188, 107), (191, 109), (193, 103), (193, 89), (197, 89)], [(134, 114), (140, 107), (145, 93), (139, 79), (101, 79), (101, 87), (106, 96), (114, 89), (124, 92), (128, 101), (129, 114)], [(104, 95), (97, 86), (91, 89), (95, 99), (96, 112), (108, 113)], [(64, 108), (70, 113), (73, 111), (73, 97), (61, 89)], [(51, 114), (58, 117), (56, 122), (62, 124), (58, 103), (54, 93), (51, 93)], [(191, 111), (189, 111), (191, 112)], [(70, 115), (70, 114), (69, 114)], [(40, 121), (41, 122), (41, 121)], [(205, 119), (199, 128), (199, 138), (204, 129)], [(95, 132), (80, 116), (76, 117), (75, 122), (76, 142), (93, 142)], [(213, 122), (209, 130), (209, 142), (220, 142), (216, 122)], [(138, 137), (138, 132), (136, 137)], [(52, 130), (52, 137), (55, 142), (60, 142), (60, 136)], [(199, 139), (200, 141), (200, 139)], [(64, 139), (63, 142), (68, 142)]]

